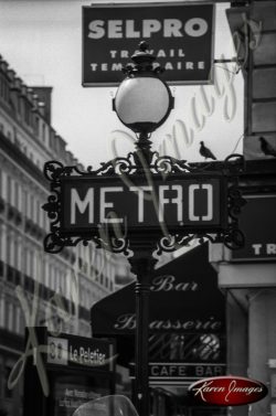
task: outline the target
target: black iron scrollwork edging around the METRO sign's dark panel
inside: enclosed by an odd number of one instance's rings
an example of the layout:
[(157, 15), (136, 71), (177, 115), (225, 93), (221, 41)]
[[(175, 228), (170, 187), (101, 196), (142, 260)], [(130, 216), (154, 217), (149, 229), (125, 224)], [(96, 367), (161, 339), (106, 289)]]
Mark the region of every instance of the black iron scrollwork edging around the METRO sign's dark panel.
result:
[[(213, 164), (212, 164), (213, 167)], [(224, 162), (217, 162), (217, 167), (223, 171), (227, 178), (227, 216), (229, 222), (225, 230), (220, 230), (214, 233), (197, 233), (189, 234), (174, 233), (173, 235), (157, 236), (149, 235), (148, 238), (155, 238), (158, 254), (162, 252), (172, 252), (177, 248), (188, 245), (193, 238), (199, 238), (204, 242), (206, 238), (212, 243), (223, 243), (231, 249), (240, 248), (244, 244), (244, 235), (238, 230), (238, 214), (245, 200), (238, 189), (238, 174), (244, 170), (244, 159), (241, 154), (231, 154)], [(115, 158), (108, 162), (102, 163), (100, 168), (94, 170), (88, 167), (86, 170), (79, 166), (64, 167), (59, 161), (49, 161), (44, 167), (44, 175), (50, 181), (51, 194), (47, 202), (43, 205), (50, 218), (51, 233), (44, 239), (44, 249), (49, 253), (59, 253), (65, 246), (76, 246), (78, 243), (87, 245), (93, 241), (98, 248), (105, 248), (114, 253), (128, 254), (128, 247), (132, 235), (128, 234), (125, 237), (117, 237), (116, 235), (108, 235), (103, 233), (103, 227), (98, 226), (97, 232), (92, 232), (89, 236), (64, 236), (61, 233), (61, 179), (71, 175), (87, 177), (92, 180), (98, 177), (124, 177), (131, 178), (134, 174), (147, 175), (151, 174), (152, 180), (155, 175), (167, 178), (173, 174), (200, 173), (203, 170), (210, 170), (210, 163), (193, 163), (189, 164), (185, 160), (177, 160), (169, 156), (159, 156), (158, 152), (150, 150), (150, 141), (146, 139), (146, 145), (135, 152), (128, 153), (125, 158)], [(132, 242), (131, 242), (132, 244)]]

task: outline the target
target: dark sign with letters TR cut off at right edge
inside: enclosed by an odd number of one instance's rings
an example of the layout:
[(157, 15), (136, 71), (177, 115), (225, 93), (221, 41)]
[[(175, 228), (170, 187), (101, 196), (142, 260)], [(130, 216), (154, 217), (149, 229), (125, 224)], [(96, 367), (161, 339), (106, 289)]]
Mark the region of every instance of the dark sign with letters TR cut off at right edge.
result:
[(276, 260), (276, 195), (246, 196), (238, 224), (244, 247), (231, 252), (232, 260)]

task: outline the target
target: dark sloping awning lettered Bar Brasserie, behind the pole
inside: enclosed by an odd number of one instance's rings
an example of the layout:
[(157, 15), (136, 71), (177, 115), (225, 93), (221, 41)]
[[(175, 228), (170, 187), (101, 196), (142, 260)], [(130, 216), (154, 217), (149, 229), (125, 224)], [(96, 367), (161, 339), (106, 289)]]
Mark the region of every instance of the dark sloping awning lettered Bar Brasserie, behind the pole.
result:
[[(149, 297), (150, 333), (225, 333), (225, 298), (200, 245), (155, 270)], [(91, 309), (94, 337), (132, 335), (136, 327), (135, 282)]]

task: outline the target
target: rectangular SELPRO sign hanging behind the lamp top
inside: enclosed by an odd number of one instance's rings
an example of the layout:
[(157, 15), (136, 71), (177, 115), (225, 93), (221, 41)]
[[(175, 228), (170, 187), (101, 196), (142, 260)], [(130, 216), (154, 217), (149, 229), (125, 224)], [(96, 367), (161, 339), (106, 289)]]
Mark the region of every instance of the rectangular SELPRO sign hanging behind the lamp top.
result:
[(83, 86), (118, 85), (140, 41), (170, 84), (210, 84), (213, 4), (125, 3), (83, 7)]

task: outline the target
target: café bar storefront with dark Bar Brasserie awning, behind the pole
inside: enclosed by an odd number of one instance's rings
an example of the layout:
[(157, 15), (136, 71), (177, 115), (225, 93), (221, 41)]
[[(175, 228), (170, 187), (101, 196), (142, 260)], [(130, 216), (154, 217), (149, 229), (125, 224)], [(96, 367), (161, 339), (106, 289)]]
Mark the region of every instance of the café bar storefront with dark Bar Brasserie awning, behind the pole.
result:
[[(226, 373), (225, 298), (208, 244), (157, 269), (149, 302), (152, 415), (224, 415), (222, 408), (191, 406), (187, 393), (193, 381)], [(129, 369), (131, 382), (135, 328), (135, 282), (92, 308), (93, 335), (116, 338), (118, 363)]]

